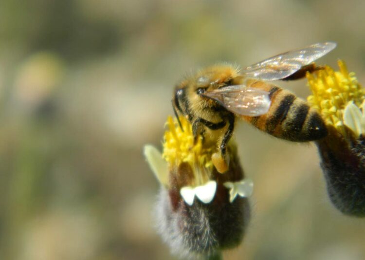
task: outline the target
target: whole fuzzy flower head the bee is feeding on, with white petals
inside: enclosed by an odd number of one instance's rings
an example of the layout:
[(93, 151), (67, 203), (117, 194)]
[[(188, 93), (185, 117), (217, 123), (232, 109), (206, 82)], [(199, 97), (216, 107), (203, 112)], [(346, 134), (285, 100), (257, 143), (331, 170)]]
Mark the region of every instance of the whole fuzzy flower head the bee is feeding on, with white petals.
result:
[(243, 179), (234, 141), (227, 147), (229, 168), (221, 174), (211, 160), (216, 146), (203, 144), (201, 136), (194, 141), (191, 125), (184, 117), (180, 121), (183, 129), (168, 119), (160, 158), (157, 149), (145, 147), (147, 161), (163, 184), (156, 204), (158, 232), (183, 259), (214, 258), (242, 241), (253, 185)]

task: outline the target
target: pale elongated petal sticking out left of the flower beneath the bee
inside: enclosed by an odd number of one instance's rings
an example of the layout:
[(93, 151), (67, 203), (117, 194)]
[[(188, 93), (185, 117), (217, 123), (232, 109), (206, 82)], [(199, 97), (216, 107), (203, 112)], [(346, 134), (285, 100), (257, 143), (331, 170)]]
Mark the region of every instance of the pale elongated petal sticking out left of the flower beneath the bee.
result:
[(167, 162), (164, 161), (159, 150), (154, 146), (146, 145), (143, 150), (146, 160), (155, 174), (156, 178), (164, 185), (168, 184), (168, 168)]

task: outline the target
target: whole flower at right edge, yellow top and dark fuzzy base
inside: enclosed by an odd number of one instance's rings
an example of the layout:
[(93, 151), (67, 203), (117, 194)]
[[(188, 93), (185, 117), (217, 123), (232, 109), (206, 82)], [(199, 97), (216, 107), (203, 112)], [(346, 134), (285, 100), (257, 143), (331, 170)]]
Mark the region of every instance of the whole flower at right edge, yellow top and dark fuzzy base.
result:
[(364, 89), (343, 61), (308, 74), (308, 98), (324, 117), (329, 134), (316, 142), (329, 198), (341, 212), (365, 216)]

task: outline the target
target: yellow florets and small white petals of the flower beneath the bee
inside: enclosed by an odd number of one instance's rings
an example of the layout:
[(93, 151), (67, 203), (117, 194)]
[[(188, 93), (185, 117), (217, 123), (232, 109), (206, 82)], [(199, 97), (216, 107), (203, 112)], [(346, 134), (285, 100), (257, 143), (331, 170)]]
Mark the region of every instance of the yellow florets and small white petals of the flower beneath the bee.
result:
[(153, 146), (146, 145), (144, 148), (147, 162), (160, 183), (167, 189), (177, 188), (183, 200), (190, 206), (195, 197), (203, 203), (210, 203), (219, 183), (229, 191), (230, 202), (237, 195), (251, 195), (252, 181), (240, 179), (243, 176), (239, 170), (234, 141), (231, 140), (228, 144), (228, 159), (233, 160), (232, 168), (219, 177), (220, 173), (212, 162), (216, 145), (203, 143), (201, 135), (194, 140), (190, 122), (183, 116), (179, 120), (181, 126), (176, 118), (167, 118), (162, 154)]

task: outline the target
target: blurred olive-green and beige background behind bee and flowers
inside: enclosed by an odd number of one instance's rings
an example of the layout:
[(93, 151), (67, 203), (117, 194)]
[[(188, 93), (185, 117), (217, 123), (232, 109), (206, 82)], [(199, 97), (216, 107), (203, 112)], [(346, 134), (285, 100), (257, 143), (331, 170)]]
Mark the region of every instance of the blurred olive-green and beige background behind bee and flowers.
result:
[[(335, 41), (319, 61), (365, 82), (363, 0), (1, 0), (0, 259), (174, 259), (156, 235), (173, 87), (219, 61), (244, 65)], [(306, 81), (281, 83), (300, 97)], [(365, 259), (365, 220), (329, 202), (314, 145), (240, 123), (255, 182), (244, 242), (225, 259)]]

